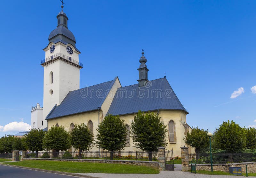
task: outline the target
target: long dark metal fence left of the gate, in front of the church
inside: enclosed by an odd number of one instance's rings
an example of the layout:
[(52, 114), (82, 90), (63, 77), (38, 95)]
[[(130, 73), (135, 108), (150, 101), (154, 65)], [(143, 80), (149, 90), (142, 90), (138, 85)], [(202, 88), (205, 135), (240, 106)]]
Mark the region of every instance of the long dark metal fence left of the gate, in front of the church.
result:
[[(36, 153), (27, 152), (27, 158), (36, 158)], [(102, 159), (109, 160), (110, 152), (107, 151), (82, 151), (79, 152), (38, 152), (38, 158), (59, 158), (59, 159)], [(143, 160), (148, 161), (147, 151), (115, 151), (113, 160)], [(152, 161), (157, 160), (157, 152), (152, 152)]]

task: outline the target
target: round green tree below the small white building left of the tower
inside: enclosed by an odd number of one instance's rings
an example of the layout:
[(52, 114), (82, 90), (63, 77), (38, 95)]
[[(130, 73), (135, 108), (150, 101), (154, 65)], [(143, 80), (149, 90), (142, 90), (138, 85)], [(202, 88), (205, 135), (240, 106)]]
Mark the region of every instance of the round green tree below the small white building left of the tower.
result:
[(42, 129), (31, 129), (24, 135), (24, 145), (32, 152), (36, 151), (36, 158), (38, 158), (38, 151), (44, 149), (44, 134), (45, 132)]

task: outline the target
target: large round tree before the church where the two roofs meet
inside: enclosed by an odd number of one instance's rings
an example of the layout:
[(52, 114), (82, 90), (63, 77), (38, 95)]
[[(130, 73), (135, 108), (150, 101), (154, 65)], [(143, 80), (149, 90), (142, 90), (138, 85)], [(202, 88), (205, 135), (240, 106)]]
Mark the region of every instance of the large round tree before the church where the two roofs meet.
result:
[(100, 123), (97, 131), (97, 147), (110, 151), (110, 160), (112, 160), (114, 151), (126, 146), (127, 129), (124, 120), (110, 114)]

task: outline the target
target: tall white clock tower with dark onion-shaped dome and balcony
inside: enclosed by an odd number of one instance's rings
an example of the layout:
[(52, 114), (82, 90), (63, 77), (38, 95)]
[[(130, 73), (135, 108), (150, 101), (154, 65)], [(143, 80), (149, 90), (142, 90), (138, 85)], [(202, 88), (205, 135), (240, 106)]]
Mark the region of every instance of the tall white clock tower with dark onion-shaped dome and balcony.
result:
[[(59, 105), (69, 91), (79, 89), (80, 51), (76, 48), (76, 39), (68, 30), (68, 17), (63, 12), (57, 15), (57, 28), (49, 35), (49, 44), (43, 50), (45, 59), (41, 61), (44, 67), (44, 103), (43, 118), (45, 119), (55, 104)], [(44, 120), (43, 127), (47, 127)]]

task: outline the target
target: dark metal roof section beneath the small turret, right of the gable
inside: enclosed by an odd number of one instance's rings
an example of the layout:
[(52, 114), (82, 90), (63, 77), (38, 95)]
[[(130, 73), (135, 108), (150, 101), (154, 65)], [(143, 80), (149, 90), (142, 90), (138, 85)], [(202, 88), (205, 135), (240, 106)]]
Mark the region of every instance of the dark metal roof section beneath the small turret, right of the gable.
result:
[(165, 77), (148, 81), (142, 87), (135, 84), (117, 89), (108, 114), (123, 115), (158, 109), (183, 110), (188, 114)]

